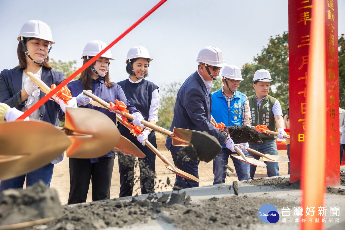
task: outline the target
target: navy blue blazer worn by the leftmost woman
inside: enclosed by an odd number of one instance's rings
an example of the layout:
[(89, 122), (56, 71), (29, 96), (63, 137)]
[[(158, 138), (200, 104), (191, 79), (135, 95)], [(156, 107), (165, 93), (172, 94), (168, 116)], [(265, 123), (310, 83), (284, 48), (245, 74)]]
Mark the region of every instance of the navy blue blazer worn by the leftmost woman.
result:
[[(19, 92), (22, 89), (22, 77), (23, 70), (4, 69), (0, 73), (0, 102), (8, 104), (11, 108), (15, 107), (21, 110), (26, 101), (21, 102)], [(46, 83), (49, 87), (51, 84), (60, 84), (65, 78), (63, 73), (49, 70), (46, 67), (42, 67), (41, 80)], [(40, 92), (40, 98), (44, 97), (46, 93)], [(40, 120), (49, 122), (53, 125), (58, 126), (58, 103), (52, 100), (48, 100), (39, 108)]]

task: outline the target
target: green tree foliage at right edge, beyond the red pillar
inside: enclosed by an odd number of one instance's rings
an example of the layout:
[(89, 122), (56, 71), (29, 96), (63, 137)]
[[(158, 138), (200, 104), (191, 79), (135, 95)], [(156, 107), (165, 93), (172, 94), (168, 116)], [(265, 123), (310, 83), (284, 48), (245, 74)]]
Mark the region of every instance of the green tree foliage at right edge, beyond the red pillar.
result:
[(338, 38), (339, 47), (339, 107), (345, 108), (345, 37), (344, 33)]

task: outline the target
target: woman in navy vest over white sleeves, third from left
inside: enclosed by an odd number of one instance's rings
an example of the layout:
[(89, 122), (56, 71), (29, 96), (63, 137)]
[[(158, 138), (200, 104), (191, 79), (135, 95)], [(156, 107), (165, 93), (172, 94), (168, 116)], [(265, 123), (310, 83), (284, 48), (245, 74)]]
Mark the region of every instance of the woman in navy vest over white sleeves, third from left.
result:
[[(118, 82), (124, 90), (127, 99), (142, 114), (144, 119), (152, 124), (158, 122), (158, 86), (147, 81), (147, 70), (152, 61), (146, 48), (135, 46), (129, 49), (126, 58), (126, 71), (129, 77)], [(119, 125), (121, 135), (128, 138), (146, 154), (145, 158), (138, 159), (140, 167), (141, 194), (155, 192), (155, 160), (156, 155), (147, 146), (145, 140), (157, 147), (155, 132), (146, 127), (137, 139), (129, 130)], [(120, 197), (132, 196), (134, 185), (134, 158), (118, 155), (120, 171)]]

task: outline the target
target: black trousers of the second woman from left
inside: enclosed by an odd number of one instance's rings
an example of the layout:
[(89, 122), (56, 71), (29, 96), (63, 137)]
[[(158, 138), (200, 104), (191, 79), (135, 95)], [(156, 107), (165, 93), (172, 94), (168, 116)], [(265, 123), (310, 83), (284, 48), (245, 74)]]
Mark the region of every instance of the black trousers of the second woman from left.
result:
[(98, 162), (90, 159), (69, 158), (68, 204), (86, 202), (90, 179), (92, 201), (110, 199), (110, 183), (114, 157), (102, 157)]

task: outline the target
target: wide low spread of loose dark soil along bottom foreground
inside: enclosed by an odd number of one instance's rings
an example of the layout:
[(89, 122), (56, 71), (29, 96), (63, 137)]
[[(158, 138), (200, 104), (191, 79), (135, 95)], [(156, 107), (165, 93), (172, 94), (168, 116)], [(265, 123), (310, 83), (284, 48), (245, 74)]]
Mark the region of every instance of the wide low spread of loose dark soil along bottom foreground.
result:
[[(169, 199), (170, 198), (170, 199)], [(30, 229), (89, 230), (106, 227), (125, 227), (160, 219), (180, 229), (250, 229), (260, 223), (258, 209), (272, 203), (278, 209), (288, 205), (284, 199), (272, 197), (232, 196), (211, 198), (190, 204), (185, 193), (164, 194), (161, 198), (149, 196), (145, 200), (111, 200), (65, 207), (61, 219)], [(292, 204), (296, 205), (296, 204)]]

